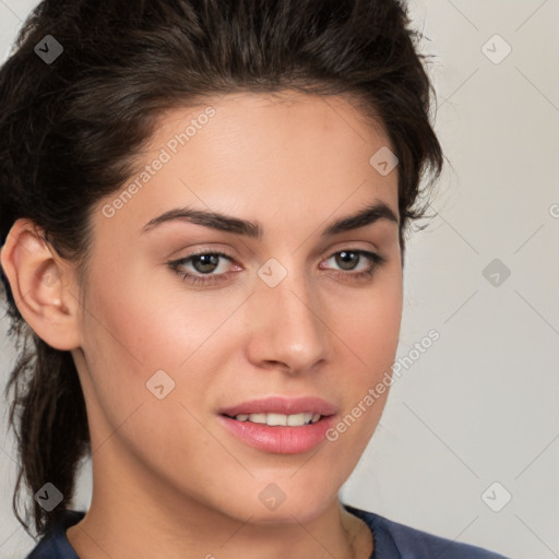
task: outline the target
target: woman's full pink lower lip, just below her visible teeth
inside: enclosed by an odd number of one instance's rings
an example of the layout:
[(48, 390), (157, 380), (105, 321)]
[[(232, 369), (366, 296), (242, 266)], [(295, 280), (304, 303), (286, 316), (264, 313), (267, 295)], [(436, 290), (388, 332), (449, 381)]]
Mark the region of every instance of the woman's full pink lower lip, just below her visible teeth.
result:
[(333, 426), (335, 416), (322, 417), (316, 424), (301, 427), (274, 426), (238, 421), (221, 415), (219, 421), (243, 442), (259, 450), (276, 454), (300, 454), (326, 440), (326, 431)]

